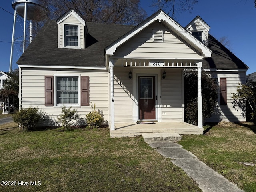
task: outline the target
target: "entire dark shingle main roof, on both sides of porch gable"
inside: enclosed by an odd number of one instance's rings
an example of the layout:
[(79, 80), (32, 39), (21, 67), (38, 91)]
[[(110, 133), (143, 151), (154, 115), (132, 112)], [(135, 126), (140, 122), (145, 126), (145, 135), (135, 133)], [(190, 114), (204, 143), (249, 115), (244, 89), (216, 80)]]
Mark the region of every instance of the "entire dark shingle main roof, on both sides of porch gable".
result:
[[(58, 25), (55, 20), (45, 24), (31, 42), (18, 64), (51, 66), (105, 66), (105, 48), (132, 30), (134, 26), (86, 23), (89, 36), (85, 49), (58, 48)], [(203, 60), (203, 68), (247, 69), (248, 66), (209, 35), (212, 57)]]

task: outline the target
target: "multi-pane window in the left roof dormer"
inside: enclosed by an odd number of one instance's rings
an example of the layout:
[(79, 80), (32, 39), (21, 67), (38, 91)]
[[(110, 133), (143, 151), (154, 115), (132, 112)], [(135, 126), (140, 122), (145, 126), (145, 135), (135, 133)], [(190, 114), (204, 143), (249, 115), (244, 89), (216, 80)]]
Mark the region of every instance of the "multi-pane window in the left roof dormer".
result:
[(66, 46), (78, 46), (78, 26), (77, 25), (65, 25), (65, 47)]

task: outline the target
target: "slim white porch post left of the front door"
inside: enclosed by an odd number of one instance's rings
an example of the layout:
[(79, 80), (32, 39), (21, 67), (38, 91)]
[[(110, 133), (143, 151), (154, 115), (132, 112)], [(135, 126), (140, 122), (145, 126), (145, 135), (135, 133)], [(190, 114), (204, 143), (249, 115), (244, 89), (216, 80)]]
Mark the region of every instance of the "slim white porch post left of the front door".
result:
[(115, 105), (114, 105), (114, 60), (109, 60), (110, 66), (110, 111), (111, 111), (111, 130), (115, 130)]

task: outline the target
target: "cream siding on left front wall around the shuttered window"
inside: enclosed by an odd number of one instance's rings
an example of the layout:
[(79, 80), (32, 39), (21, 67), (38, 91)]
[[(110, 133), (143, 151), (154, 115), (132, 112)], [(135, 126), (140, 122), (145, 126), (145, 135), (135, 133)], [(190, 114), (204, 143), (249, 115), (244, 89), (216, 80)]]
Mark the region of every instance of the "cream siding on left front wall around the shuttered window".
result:
[[(44, 106), (44, 76), (53, 76), (54, 74), (74, 74), (80, 76), (89, 76), (90, 78), (90, 103), (96, 104), (96, 110), (102, 112), (104, 123), (108, 123), (108, 72), (103, 70), (34, 70), (22, 69), (21, 71), (21, 93), (20, 104), (23, 108), (29, 106), (38, 107), (40, 110), (56, 119), (61, 113), (61, 106)], [(80, 101), (79, 101), (80, 102)], [(73, 106), (81, 118), (92, 111), (91, 106)]]

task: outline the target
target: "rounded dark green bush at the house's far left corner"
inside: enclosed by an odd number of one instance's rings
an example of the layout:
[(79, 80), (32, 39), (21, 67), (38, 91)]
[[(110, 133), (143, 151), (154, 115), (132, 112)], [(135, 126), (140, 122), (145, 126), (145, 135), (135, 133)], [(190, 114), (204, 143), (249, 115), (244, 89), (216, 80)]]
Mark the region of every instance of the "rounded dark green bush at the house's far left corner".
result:
[(43, 112), (39, 111), (38, 107), (20, 108), (13, 115), (13, 121), (18, 123), (23, 131), (31, 130), (43, 118)]

